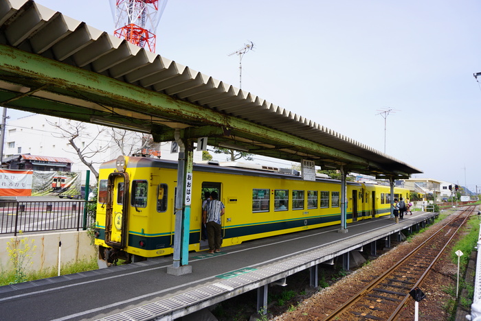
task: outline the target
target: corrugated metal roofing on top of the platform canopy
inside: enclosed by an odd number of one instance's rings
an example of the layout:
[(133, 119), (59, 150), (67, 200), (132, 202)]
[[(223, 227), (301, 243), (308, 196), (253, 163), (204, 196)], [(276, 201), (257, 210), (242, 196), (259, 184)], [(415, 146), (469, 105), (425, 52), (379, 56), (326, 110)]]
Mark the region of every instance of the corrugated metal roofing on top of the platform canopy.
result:
[(34, 1), (0, 0), (0, 27), (2, 44), (212, 108), (407, 174), (421, 173), (419, 169), (315, 121)]

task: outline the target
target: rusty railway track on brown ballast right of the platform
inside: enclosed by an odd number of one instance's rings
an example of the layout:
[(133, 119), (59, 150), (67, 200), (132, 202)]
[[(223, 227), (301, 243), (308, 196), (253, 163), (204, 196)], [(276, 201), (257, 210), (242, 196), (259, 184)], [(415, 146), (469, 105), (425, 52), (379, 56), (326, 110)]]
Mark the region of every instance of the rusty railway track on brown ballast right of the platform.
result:
[(346, 293), (348, 298), (344, 302), (333, 302), (333, 305), (325, 306), (324, 309), (331, 310), (331, 313), (311, 311), (312, 316), (322, 317), (325, 321), (396, 320), (410, 298), (409, 292), (421, 284), (474, 209), (475, 206), (470, 206), (458, 213), (381, 276), (361, 281)]

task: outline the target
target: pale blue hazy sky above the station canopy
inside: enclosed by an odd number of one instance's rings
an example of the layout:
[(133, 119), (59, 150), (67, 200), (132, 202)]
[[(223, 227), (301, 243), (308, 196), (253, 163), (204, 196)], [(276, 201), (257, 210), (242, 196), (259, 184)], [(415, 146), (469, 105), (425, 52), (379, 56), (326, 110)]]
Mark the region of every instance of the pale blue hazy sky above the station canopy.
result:
[[(36, 3), (113, 33), (107, 0)], [(477, 0), (170, 0), (156, 52), (238, 87), (230, 53), (252, 42), (243, 90), (481, 191), (480, 16)]]

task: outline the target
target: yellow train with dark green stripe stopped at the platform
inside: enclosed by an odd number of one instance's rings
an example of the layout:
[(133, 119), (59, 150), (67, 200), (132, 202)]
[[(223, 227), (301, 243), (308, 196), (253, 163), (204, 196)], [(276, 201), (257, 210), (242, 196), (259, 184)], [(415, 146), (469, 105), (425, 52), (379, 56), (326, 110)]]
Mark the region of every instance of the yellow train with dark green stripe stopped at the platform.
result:
[[(122, 163), (123, 162), (123, 163)], [(118, 169), (119, 168), (119, 169)], [(99, 171), (96, 245), (102, 259), (158, 257), (173, 252), (177, 162), (121, 156)], [(225, 204), (223, 247), (341, 222), (341, 183), (295, 173), (197, 164), (192, 173), (189, 250), (201, 237), (204, 191)], [(409, 190), (394, 189), (407, 198)], [(390, 187), (347, 183), (346, 222), (390, 214)]]

